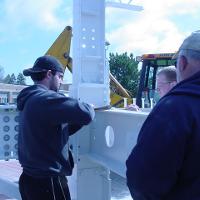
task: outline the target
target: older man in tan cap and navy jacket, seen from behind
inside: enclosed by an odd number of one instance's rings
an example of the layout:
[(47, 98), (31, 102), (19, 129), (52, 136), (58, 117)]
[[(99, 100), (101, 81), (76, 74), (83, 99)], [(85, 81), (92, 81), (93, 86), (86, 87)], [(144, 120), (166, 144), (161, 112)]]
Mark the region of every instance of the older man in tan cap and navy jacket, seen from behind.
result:
[(149, 114), (126, 161), (134, 200), (200, 199), (200, 32), (174, 58), (178, 84)]

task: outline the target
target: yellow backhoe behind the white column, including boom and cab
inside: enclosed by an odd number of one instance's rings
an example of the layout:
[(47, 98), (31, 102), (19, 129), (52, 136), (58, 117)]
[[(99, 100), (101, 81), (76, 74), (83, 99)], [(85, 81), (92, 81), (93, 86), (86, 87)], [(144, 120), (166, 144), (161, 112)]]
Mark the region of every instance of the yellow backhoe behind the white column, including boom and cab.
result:
[[(72, 28), (67, 26), (63, 32), (58, 36), (49, 50), (46, 52), (48, 55), (55, 56), (72, 72), (72, 58), (70, 55), (70, 46), (72, 38)], [(142, 62), (142, 69), (140, 74), (140, 82), (138, 86), (138, 93), (136, 97), (136, 104), (142, 106), (142, 94), (144, 91), (148, 91), (148, 98), (154, 96), (156, 87), (156, 73), (160, 67), (167, 67), (174, 65), (172, 56), (174, 53), (160, 53), (160, 54), (144, 54), (141, 57), (137, 57), (137, 61)], [(127, 103), (132, 103), (131, 96), (127, 90), (115, 79), (110, 73), (110, 99), (111, 106), (123, 107), (123, 100), (127, 98)]]

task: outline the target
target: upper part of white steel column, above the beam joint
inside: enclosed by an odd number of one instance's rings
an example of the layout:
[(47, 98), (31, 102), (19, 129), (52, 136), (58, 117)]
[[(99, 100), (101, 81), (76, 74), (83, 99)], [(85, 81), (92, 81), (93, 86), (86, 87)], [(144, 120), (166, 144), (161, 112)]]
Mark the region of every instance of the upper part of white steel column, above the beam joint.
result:
[(71, 96), (95, 106), (110, 104), (105, 65), (105, 1), (73, 1), (73, 83)]

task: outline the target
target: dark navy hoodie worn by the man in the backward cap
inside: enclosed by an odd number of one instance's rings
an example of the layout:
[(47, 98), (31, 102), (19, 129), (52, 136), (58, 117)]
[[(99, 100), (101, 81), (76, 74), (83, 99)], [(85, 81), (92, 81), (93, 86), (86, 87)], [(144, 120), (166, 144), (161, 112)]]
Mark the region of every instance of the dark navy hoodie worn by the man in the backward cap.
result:
[(93, 108), (39, 84), (20, 92), (17, 108), (23, 171), (34, 177), (70, 175), (69, 135), (92, 121)]

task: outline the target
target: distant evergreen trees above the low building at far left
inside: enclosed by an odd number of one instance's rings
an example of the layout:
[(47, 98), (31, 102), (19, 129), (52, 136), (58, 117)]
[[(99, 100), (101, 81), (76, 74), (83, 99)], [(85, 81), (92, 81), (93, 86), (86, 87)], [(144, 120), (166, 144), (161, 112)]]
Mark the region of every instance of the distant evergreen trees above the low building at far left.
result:
[(4, 76), (4, 69), (0, 66), (0, 82), (6, 84), (26, 85), (26, 78), (22, 73), (17, 76), (12, 73)]

